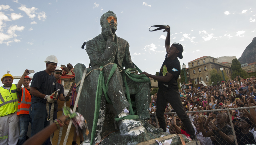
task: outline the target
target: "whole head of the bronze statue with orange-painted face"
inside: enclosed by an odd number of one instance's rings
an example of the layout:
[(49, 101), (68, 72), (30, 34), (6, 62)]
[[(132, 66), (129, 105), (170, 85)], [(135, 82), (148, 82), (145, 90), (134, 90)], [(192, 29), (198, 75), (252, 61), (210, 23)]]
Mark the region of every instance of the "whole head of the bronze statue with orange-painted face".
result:
[(108, 11), (104, 13), (100, 17), (100, 25), (103, 30), (103, 28), (111, 28), (112, 32), (117, 30), (117, 17), (116, 14), (112, 11)]

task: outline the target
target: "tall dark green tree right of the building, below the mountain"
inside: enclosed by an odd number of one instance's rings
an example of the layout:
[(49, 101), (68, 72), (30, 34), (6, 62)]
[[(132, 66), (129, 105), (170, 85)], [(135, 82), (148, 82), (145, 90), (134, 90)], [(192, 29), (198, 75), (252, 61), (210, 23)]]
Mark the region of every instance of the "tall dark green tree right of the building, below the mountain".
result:
[(236, 58), (232, 60), (231, 70), (232, 70), (232, 79), (236, 78), (236, 76), (240, 76), (241, 78), (249, 77), (246, 71), (241, 68), (241, 64)]

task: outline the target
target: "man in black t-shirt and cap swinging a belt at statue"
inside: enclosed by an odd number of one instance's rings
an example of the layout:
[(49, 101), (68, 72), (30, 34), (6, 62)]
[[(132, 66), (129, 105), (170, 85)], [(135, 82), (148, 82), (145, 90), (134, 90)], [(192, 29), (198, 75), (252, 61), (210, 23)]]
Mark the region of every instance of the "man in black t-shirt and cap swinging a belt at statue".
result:
[(177, 79), (180, 75), (180, 59), (183, 58), (183, 46), (179, 43), (173, 43), (170, 47), (170, 28), (165, 29), (167, 31), (167, 36), (165, 39), (165, 60), (159, 71), (159, 76), (151, 75), (146, 72), (147, 77), (151, 77), (158, 81), (158, 93), (157, 93), (157, 112), (156, 116), (159, 121), (160, 128), (166, 132), (166, 124), (164, 118), (164, 111), (167, 102), (169, 102), (173, 109), (175, 109), (177, 115), (184, 124), (186, 132), (190, 135), (190, 138), (195, 140), (195, 130), (190, 122), (187, 114), (185, 114), (183, 105), (181, 103), (180, 94), (178, 92), (178, 82)]

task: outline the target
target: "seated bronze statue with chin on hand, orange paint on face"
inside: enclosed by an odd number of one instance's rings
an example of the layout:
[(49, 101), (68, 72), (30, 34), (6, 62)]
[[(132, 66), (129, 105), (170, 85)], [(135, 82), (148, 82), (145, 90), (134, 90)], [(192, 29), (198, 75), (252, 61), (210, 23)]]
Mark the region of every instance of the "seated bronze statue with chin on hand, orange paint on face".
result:
[[(135, 68), (129, 51), (129, 43), (117, 37), (115, 32), (117, 30), (117, 17), (112, 11), (108, 11), (104, 13), (100, 18), (100, 25), (102, 27), (102, 32), (92, 40), (89, 40), (86, 43), (86, 52), (90, 58), (91, 68), (87, 68), (88, 72), (97, 69), (100, 66), (105, 66), (103, 68), (105, 84), (107, 83), (107, 79), (110, 74), (110, 70), (113, 64), (117, 64), (119, 67), (127, 68)], [(109, 64), (109, 65), (107, 65)], [(75, 67), (75, 80), (76, 83), (81, 80), (81, 76), (85, 66), (83, 64), (77, 64)], [(87, 73), (88, 73), (87, 72)], [(88, 122), (88, 128), (92, 128), (93, 113), (95, 108), (95, 94), (97, 89), (97, 82), (99, 78), (99, 70), (92, 71), (85, 79), (84, 86), (81, 92), (81, 97), (79, 99), (79, 113), (81, 113)], [(129, 87), (129, 92), (131, 95), (135, 96), (135, 104), (137, 108), (137, 115), (140, 120), (133, 120), (132, 127), (137, 127), (138, 125), (144, 125), (144, 123), (138, 122), (146, 122), (145, 120), (150, 118), (149, 116), (149, 102), (150, 102), (150, 88), (149, 82), (141, 82), (137, 83), (126, 77), (127, 84)], [(107, 95), (113, 104), (113, 108), (118, 115), (118, 117), (122, 117), (125, 115), (129, 115), (127, 113), (127, 109), (129, 107), (129, 103), (126, 99), (126, 90), (123, 83), (122, 72), (119, 71), (118, 67), (116, 68), (114, 74), (112, 75)], [(78, 86), (79, 87), (79, 86)], [(78, 88), (77, 88), (78, 90)], [(127, 111), (126, 111), (127, 110)], [(104, 119), (106, 114), (106, 100), (104, 93), (102, 93), (101, 98), (101, 106), (99, 112), (99, 119), (97, 124), (97, 131), (95, 142), (99, 141), (102, 136), (102, 129), (104, 130)], [(112, 118), (114, 120), (114, 118)], [(134, 122), (136, 125), (134, 125)], [(137, 122), (137, 123), (136, 123)], [(122, 120), (118, 122), (118, 126), (122, 126)], [(115, 125), (116, 127), (116, 125)], [(127, 129), (127, 128), (128, 129)], [(126, 125), (125, 130), (129, 131), (129, 126)], [(131, 126), (130, 126), (131, 127)], [(145, 125), (144, 125), (145, 127)], [(146, 128), (146, 127), (145, 127)], [(117, 129), (117, 127), (116, 127)], [(156, 129), (156, 128), (155, 128)], [(152, 128), (149, 129), (152, 132)], [(148, 131), (149, 131), (148, 130)], [(154, 129), (153, 129), (154, 130)], [(121, 131), (121, 128), (120, 128)], [(157, 131), (162, 131), (161, 129), (157, 129)], [(122, 131), (121, 131), (122, 133)], [(90, 136), (90, 135), (89, 135)], [(90, 137), (89, 137), (90, 139)]]

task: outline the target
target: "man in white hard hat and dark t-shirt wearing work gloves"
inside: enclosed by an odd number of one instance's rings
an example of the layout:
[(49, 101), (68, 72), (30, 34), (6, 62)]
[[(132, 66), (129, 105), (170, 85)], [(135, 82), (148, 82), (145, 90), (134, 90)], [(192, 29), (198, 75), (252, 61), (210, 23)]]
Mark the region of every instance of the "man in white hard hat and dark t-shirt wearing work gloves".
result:
[(33, 95), (31, 111), (29, 112), (33, 123), (31, 136), (44, 129), (50, 123), (50, 121), (47, 121), (46, 101), (50, 104), (57, 100), (53, 99), (52, 96), (57, 90), (57, 82), (52, 72), (57, 67), (58, 59), (56, 56), (50, 55), (44, 62), (46, 69), (35, 73), (30, 85), (30, 93)]

